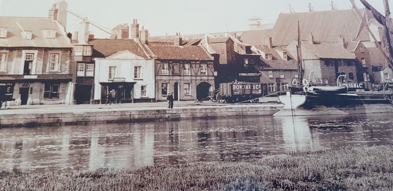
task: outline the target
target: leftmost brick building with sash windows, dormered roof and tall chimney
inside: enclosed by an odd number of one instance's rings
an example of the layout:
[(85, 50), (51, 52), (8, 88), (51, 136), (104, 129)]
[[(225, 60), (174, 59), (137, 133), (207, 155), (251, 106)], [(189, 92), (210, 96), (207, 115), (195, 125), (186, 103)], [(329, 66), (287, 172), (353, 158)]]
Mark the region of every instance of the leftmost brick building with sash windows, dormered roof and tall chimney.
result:
[(64, 10), (62, 1), (48, 18), (0, 17), (0, 77), (16, 82), (16, 100), (8, 105), (72, 104), (72, 45)]

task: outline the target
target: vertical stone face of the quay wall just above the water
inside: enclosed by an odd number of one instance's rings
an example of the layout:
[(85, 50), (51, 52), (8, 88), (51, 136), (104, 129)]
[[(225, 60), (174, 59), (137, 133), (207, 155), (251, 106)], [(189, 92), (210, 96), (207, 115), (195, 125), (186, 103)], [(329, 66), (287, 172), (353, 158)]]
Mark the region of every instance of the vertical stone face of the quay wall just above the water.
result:
[(225, 107), (188, 107), (147, 110), (99, 110), (94, 112), (56, 112), (36, 114), (3, 114), (0, 127), (34, 127), (44, 125), (75, 125), (84, 123), (134, 123), (141, 121), (179, 120), (181, 118), (217, 118), (223, 116), (273, 116), (280, 110), (264, 105)]

